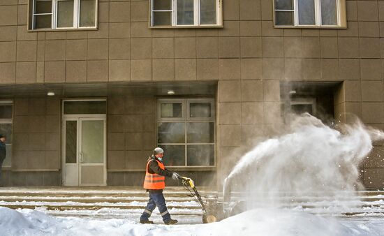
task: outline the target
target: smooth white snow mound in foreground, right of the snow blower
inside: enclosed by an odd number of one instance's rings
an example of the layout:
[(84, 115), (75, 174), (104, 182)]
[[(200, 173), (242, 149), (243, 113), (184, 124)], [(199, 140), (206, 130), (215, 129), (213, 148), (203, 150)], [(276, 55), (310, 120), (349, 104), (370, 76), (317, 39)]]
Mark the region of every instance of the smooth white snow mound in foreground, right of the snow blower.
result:
[(342, 222), (284, 209), (253, 209), (207, 226), (212, 235), (383, 235), (384, 223)]

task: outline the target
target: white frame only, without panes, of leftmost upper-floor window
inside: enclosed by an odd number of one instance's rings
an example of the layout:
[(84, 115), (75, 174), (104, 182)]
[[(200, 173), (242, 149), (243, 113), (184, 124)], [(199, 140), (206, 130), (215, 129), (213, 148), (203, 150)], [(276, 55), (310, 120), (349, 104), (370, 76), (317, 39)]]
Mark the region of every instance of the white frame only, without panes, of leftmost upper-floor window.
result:
[[(43, 0), (43, 1), (52, 1), (52, 10), (51, 13), (35, 13), (35, 3), (36, 0), (32, 0), (32, 30), (52, 30), (52, 29), (96, 29), (97, 20), (98, 20), (98, 0), (95, 1), (95, 24), (92, 27), (80, 27), (80, 1), (82, 0), (73, 0), (73, 27), (57, 27), (57, 2), (58, 1), (69, 1), (69, 0)], [(36, 29), (35, 28), (35, 15), (52, 15), (51, 16), (51, 28), (46, 29)]]

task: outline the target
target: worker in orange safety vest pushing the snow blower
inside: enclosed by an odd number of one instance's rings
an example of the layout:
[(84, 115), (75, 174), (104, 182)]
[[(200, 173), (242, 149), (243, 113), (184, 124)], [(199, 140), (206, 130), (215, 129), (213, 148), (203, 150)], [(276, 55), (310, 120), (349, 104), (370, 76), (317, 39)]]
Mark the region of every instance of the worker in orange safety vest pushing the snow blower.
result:
[(149, 192), (149, 201), (147, 207), (140, 217), (140, 223), (154, 223), (149, 221), (153, 210), (158, 207), (158, 211), (163, 217), (166, 225), (177, 223), (177, 220), (170, 218), (170, 213), (165, 205), (165, 198), (163, 196), (163, 189), (165, 189), (165, 177), (172, 177), (172, 179), (181, 179), (177, 172), (167, 170), (162, 162), (164, 151), (160, 147), (154, 149), (152, 156), (149, 156), (147, 161), (147, 170), (145, 172), (144, 189)]

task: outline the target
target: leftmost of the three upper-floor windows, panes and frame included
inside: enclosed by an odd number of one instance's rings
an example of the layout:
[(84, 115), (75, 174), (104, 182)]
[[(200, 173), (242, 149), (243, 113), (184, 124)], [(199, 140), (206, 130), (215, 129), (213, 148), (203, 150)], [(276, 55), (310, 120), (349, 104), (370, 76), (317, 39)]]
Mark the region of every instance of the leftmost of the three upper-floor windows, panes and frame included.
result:
[(97, 0), (30, 0), (29, 29), (96, 28)]

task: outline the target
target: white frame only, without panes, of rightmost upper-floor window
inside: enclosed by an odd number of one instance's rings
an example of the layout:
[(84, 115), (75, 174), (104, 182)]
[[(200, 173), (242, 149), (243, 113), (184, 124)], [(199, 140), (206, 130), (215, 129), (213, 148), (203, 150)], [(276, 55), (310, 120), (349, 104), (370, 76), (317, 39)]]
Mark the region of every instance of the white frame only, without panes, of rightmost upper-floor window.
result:
[[(315, 7), (315, 24), (300, 24), (299, 22), (299, 2), (298, 0), (293, 0), (293, 9), (290, 10), (279, 10), (276, 9), (274, 0), (273, 10), (274, 10), (274, 27), (303, 27), (303, 28), (340, 28), (346, 27), (346, 0), (336, 0), (336, 13), (337, 13), (337, 24), (322, 24), (321, 18), (321, 0), (313, 0)], [(293, 12), (293, 24), (276, 24), (276, 12)]]

